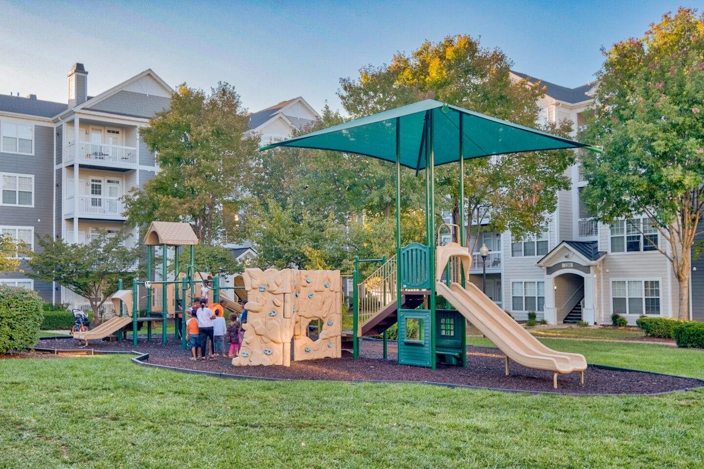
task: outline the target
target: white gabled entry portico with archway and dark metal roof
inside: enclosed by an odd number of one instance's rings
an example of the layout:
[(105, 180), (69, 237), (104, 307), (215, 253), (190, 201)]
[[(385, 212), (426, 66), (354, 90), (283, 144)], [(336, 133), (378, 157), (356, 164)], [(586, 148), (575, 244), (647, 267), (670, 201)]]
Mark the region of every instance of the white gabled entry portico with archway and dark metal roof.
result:
[(579, 309), (582, 321), (598, 321), (597, 278), (605, 256), (596, 241), (562, 241), (537, 262), (545, 272), (544, 317), (548, 323), (562, 323)]

